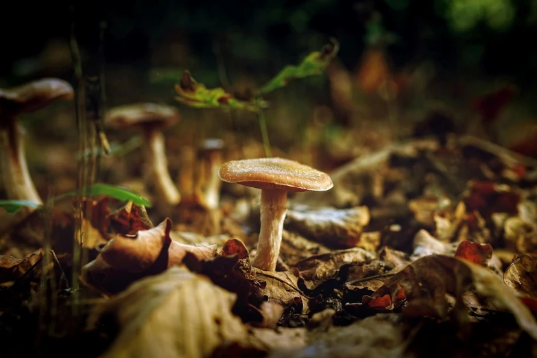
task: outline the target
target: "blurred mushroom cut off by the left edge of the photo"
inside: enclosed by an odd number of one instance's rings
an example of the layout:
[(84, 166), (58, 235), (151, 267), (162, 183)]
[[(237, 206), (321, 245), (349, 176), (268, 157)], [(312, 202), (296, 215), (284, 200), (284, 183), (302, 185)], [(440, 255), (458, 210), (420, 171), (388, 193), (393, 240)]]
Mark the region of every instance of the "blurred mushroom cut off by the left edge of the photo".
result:
[(8, 199), (43, 204), (26, 163), (23, 128), (16, 119), (36, 112), (55, 99), (72, 99), (73, 87), (58, 78), (43, 78), (22, 86), (0, 89), (0, 167)]

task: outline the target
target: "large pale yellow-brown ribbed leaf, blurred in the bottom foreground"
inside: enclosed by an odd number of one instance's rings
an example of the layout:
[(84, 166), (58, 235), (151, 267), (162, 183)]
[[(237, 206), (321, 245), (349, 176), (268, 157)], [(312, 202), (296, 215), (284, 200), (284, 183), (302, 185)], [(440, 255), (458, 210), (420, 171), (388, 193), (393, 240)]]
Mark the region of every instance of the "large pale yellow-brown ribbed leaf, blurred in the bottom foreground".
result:
[(243, 342), (248, 331), (231, 313), (235, 294), (184, 267), (143, 278), (95, 307), (89, 326), (106, 313), (119, 335), (102, 357), (210, 357), (224, 342)]

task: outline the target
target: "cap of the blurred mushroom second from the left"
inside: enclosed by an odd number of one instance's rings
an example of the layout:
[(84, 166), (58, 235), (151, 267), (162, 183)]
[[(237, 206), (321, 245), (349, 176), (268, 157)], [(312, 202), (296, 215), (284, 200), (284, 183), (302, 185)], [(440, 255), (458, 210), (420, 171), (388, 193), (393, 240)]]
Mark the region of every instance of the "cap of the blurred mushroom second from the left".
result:
[(114, 128), (131, 126), (168, 127), (179, 119), (177, 108), (165, 104), (136, 103), (108, 110), (105, 123)]

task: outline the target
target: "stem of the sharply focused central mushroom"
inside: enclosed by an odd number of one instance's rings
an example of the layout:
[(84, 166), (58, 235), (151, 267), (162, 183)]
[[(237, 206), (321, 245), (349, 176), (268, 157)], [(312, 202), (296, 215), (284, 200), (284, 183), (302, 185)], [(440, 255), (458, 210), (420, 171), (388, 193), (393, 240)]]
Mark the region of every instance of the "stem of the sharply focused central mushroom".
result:
[(265, 271), (276, 270), (286, 213), (287, 191), (261, 190), (261, 230), (259, 231), (257, 255), (252, 263), (254, 267)]

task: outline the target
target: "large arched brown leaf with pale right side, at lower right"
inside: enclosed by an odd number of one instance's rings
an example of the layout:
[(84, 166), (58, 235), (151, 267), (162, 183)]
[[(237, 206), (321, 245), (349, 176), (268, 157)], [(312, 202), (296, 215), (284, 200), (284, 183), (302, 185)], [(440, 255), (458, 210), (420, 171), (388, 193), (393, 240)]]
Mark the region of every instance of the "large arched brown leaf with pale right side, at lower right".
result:
[(436, 254), (425, 256), (386, 281), (372, 296), (363, 296), (363, 303), (390, 311), (406, 301), (403, 308), (405, 315), (446, 318), (446, 294), (460, 300), (462, 294), (472, 287), (477, 295), (512, 313), (521, 329), (537, 338), (537, 321), (515, 291), (505, 285), (497, 274), (464, 259)]

